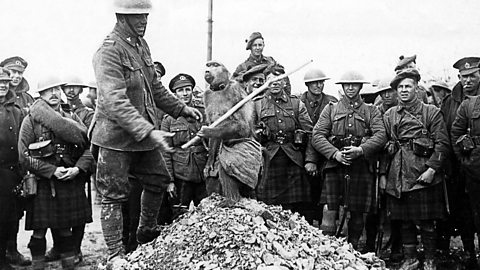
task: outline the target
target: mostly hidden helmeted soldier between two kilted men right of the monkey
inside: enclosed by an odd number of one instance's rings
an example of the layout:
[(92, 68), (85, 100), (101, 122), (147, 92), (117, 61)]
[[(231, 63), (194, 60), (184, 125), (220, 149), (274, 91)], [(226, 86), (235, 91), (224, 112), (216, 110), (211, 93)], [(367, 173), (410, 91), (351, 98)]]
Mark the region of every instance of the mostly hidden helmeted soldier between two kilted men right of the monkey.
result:
[[(327, 106), (330, 102), (338, 102), (335, 97), (327, 95), (323, 91), (325, 81), (329, 79), (330, 78), (328, 78), (327, 75), (325, 75), (325, 73), (320, 69), (311, 69), (307, 71), (303, 78), (305, 86), (307, 86), (307, 91), (302, 94), (300, 100), (305, 104), (308, 116), (310, 116), (313, 125), (317, 123), (320, 113), (323, 111), (325, 106)], [(308, 166), (312, 166), (313, 168), (310, 170), (311, 173), (308, 174), (307, 178), (311, 185), (312, 205), (310, 205), (310, 207), (311, 211), (313, 211), (313, 219), (317, 220), (320, 224), (322, 222), (322, 211), (324, 204), (319, 203), (323, 186), (323, 179), (320, 169), (323, 167), (323, 164), (326, 160), (320, 153), (316, 151), (314, 159), (314, 163), (308, 164)]]

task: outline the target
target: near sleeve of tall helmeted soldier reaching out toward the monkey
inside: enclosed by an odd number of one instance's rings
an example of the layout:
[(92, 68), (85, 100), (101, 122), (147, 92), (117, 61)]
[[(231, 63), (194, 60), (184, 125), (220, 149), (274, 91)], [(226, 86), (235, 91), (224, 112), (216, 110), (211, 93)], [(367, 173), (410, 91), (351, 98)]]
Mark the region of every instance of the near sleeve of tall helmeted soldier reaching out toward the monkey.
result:
[(127, 96), (126, 78), (120, 53), (113, 44), (104, 45), (93, 59), (99, 89), (99, 102), (108, 117), (126, 130), (136, 141), (145, 139), (154, 126), (132, 105)]

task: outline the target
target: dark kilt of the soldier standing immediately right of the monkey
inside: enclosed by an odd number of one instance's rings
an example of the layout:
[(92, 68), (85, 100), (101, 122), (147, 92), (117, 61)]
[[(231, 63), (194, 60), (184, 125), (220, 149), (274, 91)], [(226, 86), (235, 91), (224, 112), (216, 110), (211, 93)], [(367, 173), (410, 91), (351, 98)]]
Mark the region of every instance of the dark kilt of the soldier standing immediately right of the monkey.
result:
[(257, 185), (256, 196), (266, 204), (310, 202), (310, 183), (304, 168), (279, 149)]

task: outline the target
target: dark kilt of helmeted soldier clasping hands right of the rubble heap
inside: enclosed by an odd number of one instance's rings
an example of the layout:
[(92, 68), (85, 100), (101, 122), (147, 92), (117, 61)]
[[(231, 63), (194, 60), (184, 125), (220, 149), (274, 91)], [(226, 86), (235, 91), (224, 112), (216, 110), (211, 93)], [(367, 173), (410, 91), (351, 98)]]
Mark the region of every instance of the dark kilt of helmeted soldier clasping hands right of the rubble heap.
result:
[[(375, 175), (370, 172), (365, 160), (353, 162), (348, 166), (348, 171), (350, 175), (348, 210), (367, 213), (373, 203)], [(344, 203), (344, 166), (325, 169), (324, 179), (320, 202), (326, 203), (329, 210), (338, 210)]]

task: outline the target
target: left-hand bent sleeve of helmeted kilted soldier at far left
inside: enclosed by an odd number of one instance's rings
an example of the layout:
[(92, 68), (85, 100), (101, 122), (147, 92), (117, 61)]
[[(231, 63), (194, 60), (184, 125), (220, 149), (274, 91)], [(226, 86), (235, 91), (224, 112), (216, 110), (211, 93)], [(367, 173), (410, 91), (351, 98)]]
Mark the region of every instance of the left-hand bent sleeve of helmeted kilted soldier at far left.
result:
[(35, 142), (35, 133), (33, 131), (33, 124), (30, 116), (25, 117), (20, 127), (20, 134), (18, 140), (18, 154), (20, 164), (26, 171), (50, 179), (57, 169), (55, 165), (44, 162), (30, 156), (28, 146)]

